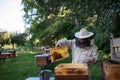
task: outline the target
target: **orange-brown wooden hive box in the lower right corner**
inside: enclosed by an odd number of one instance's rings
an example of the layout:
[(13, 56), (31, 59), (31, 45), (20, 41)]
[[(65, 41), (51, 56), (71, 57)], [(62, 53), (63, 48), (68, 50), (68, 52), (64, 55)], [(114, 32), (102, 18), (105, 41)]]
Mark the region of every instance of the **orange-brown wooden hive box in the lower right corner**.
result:
[(105, 80), (119, 80), (120, 79), (120, 64), (113, 62), (102, 62), (103, 78)]

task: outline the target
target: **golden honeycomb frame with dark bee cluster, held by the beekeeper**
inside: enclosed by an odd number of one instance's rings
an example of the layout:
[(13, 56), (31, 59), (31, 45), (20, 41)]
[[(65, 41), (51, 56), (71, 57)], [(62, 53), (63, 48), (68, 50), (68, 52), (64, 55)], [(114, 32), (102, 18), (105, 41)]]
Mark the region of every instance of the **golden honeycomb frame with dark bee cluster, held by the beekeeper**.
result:
[(54, 47), (50, 54), (52, 62), (67, 58), (69, 57), (68, 46)]

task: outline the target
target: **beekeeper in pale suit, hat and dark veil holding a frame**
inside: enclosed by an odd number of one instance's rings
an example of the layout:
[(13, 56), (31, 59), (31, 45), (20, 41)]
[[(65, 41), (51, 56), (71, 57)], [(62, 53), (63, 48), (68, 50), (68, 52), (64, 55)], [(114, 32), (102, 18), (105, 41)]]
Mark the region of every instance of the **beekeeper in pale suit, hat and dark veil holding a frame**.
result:
[(82, 28), (74, 35), (75, 38), (72, 40), (59, 40), (56, 46), (68, 45), (72, 50), (72, 63), (96, 62), (98, 59), (98, 48), (94, 44), (94, 33)]

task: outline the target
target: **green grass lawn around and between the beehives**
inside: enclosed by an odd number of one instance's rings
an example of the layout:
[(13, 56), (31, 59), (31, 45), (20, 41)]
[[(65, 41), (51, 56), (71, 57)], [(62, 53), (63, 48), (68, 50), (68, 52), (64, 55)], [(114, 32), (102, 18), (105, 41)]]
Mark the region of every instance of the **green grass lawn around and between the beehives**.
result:
[[(35, 53), (33, 52), (17, 52), (15, 58), (0, 60), (0, 80), (25, 80), (28, 77), (37, 77), (41, 69), (52, 70), (52, 76), (54, 76), (54, 67), (60, 63), (71, 62), (71, 57), (69, 57), (40, 67), (37, 66), (34, 56)], [(90, 80), (102, 80), (101, 73), (101, 64), (99, 61), (90, 64)]]

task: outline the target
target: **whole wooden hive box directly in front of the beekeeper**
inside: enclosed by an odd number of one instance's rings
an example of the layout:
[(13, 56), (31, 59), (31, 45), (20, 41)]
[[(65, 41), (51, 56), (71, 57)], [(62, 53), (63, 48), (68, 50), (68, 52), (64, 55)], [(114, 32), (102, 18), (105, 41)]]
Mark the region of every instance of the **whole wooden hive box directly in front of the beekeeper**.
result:
[(59, 64), (55, 67), (55, 80), (89, 80), (85, 64)]

